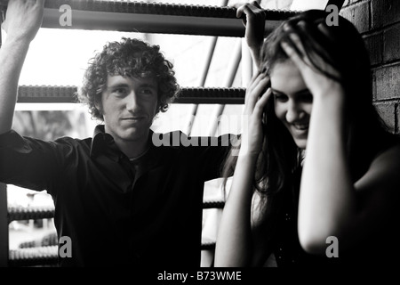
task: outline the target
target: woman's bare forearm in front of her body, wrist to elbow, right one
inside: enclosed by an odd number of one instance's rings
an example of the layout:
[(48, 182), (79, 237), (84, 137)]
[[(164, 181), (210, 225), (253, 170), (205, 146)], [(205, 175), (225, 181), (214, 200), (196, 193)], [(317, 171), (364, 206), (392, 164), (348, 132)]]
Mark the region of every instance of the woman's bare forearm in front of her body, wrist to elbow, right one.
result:
[(301, 177), (299, 238), (303, 248), (322, 253), (326, 238), (340, 236), (354, 214), (341, 96), (316, 98), (310, 119), (307, 156)]

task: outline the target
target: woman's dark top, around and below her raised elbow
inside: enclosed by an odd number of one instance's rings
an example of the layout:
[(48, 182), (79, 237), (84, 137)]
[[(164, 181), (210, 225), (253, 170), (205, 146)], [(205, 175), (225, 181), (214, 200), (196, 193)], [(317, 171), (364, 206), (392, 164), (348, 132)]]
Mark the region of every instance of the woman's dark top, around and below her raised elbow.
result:
[[(388, 143), (384, 150), (393, 143)], [(283, 267), (388, 267), (395, 266), (400, 254), (396, 229), (399, 224), (398, 211), (391, 210), (386, 221), (381, 221), (379, 231), (373, 232), (371, 236), (365, 236), (359, 242), (345, 252), (340, 251), (340, 240), (338, 240), (338, 257), (315, 256), (306, 253), (300, 247), (297, 231), (298, 206), (300, 193), (301, 167), (292, 175), (292, 189), (284, 192), (282, 208), (278, 214), (277, 231), (275, 236), (275, 246), (273, 252), (276, 256), (277, 266)], [(400, 169), (399, 169), (400, 175)], [(400, 192), (400, 189), (399, 189)], [(360, 193), (365, 195), (368, 193)], [(396, 199), (391, 201), (389, 207), (394, 206), (400, 201), (397, 193)], [(360, 199), (363, 199), (360, 196)], [(328, 248), (332, 241), (327, 242)]]

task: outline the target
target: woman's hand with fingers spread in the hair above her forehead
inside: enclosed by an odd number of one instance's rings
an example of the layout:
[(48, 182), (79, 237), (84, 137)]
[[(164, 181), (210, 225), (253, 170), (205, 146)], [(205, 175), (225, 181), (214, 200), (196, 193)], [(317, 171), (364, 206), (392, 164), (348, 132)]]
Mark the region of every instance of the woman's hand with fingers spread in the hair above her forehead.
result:
[[(316, 98), (316, 96), (324, 96), (332, 93), (343, 95), (344, 92), (342, 85), (340, 84), (339, 71), (334, 69), (330, 63), (324, 61), (323, 57), (318, 53), (325, 53), (327, 56), (329, 56), (329, 54), (326, 53), (324, 48), (318, 44), (313, 36), (310, 36), (312, 33), (307, 32), (307, 24), (300, 21), (298, 25), (303, 29), (304, 35), (308, 34), (306, 40), (313, 41), (313, 46), (316, 47), (317, 51), (306, 50), (305, 46), (301, 42), (299, 34), (296, 33), (289, 24), (284, 25), (284, 30), (289, 33), (289, 36), (281, 42), (281, 46), (295, 66), (300, 70), (300, 74), (303, 77), (308, 90), (313, 94), (314, 98)], [(326, 35), (324, 28), (324, 24), (318, 25), (322, 37), (324, 37), (323, 33)], [(316, 62), (321, 70), (316, 69), (310, 58)], [(329, 77), (327, 74), (332, 77)]]

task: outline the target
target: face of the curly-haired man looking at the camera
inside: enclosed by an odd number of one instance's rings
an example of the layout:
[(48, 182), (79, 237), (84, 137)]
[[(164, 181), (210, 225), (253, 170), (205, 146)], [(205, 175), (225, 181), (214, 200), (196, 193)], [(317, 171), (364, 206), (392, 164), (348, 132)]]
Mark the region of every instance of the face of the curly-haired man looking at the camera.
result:
[(101, 105), (106, 133), (116, 142), (148, 139), (148, 131), (156, 116), (157, 83), (152, 77), (108, 75)]

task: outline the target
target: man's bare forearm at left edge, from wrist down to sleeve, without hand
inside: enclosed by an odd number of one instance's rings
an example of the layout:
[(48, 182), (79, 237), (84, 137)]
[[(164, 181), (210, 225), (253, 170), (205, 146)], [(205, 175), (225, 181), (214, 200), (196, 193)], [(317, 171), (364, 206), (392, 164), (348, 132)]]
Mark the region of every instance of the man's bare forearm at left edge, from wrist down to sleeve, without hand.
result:
[(12, 128), (18, 82), (29, 42), (7, 40), (0, 49), (0, 134)]

